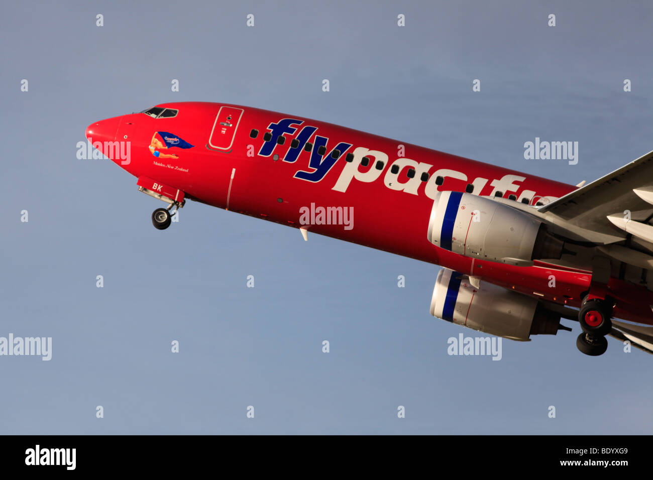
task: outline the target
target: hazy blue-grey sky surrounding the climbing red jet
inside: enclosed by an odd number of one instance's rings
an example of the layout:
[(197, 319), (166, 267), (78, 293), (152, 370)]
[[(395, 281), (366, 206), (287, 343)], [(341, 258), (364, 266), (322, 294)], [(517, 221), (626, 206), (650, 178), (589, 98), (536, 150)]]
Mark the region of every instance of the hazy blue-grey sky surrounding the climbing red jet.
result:
[[(653, 150), (652, 24), (644, 1), (7, 3), (0, 336), (53, 351), (0, 357), (0, 433), (649, 434), (650, 355), (586, 357), (564, 321), (500, 361), (449, 356), (476, 332), (429, 315), (438, 267), (192, 201), (157, 231), (163, 203), (76, 143), (215, 101), (577, 184)], [(525, 160), (536, 136), (578, 141), (578, 165)]]

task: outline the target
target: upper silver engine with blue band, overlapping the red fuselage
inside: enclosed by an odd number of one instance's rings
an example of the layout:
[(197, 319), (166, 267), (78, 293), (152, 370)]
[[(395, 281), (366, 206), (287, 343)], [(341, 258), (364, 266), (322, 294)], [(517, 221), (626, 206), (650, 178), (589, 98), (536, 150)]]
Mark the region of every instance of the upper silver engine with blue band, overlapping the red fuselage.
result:
[(456, 191), (436, 195), (428, 241), (466, 257), (532, 265), (534, 259), (560, 259), (564, 242), (546, 225), (516, 208)]

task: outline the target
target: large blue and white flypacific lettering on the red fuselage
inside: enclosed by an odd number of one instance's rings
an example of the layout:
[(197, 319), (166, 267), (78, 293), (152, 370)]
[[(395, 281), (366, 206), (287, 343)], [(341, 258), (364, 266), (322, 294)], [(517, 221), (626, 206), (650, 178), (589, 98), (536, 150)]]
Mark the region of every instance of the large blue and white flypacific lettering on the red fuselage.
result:
[[(279, 137), (283, 135), (285, 137), (283, 145), (285, 146), (289, 143), (289, 147), (287, 147), (285, 155), (279, 155), (279, 157), (281, 157), (285, 162), (295, 163), (300, 153), (304, 150), (306, 143), (317, 131), (317, 127), (311, 127), (309, 125), (304, 125), (300, 129), (299, 127), (302, 126), (303, 123), (303, 120), (298, 120), (296, 118), (282, 118), (276, 123), (270, 123), (270, 125), (268, 125), (270, 139), (264, 141), (261, 150), (259, 150), (259, 155), (262, 157), (269, 157), (272, 155), (272, 152), (274, 152), (274, 149), (278, 146), (277, 142)], [(288, 140), (291, 141), (288, 142)], [(439, 190), (436, 182), (430, 179), (435, 179), (438, 176), (459, 180), (460, 190), (464, 190), (466, 184), (472, 184), (474, 187), (474, 195), (480, 195), (483, 189), (485, 189), (484, 194), (488, 196), (494, 196), (497, 191), (502, 192), (504, 196), (507, 195), (507, 193), (515, 193), (515, 195), (518, 193), (516, 199), (518, 202), (521, 202), (522, 199), (528, 199), (530, 202), (536, 199), (543, 204), (558, 198), (539, 197), (536, 195), (535, 191), (525, 189), (521, 190), (521, 185), (515, 182), (523, 182), (526, 180), (526, 177), (524, 176), (507, 174), (502, 176), (502, 178), (494, 178), (490, 180), (488, 178), (477, 177), (470, 181), (466, 174), (459, 172), (458, 170), (439, 168), (434, 172), (430, 172), (433, 165), (425, 162), (418, 162), (409, 158), (398, 158), (390, 163), (389, 157), (386, 153), (377, 150), (370, 150), (365, 147), (357, 147), (351, 150), (353, 144), (347, 142), (339, 142), (336, 146), (328, 148), (328, 140), (328, 137), (315, 135), (315, 138), (313, 138), (313, 148), (310, 150), (310, 159), (308, 162), (309, 169), (297, 170), (294, 175), (295, 178), (307, 182), (320, 182), (325, 178), (325, 176), (327, 176), (328, 172), (331, 171), (340, 158), (345, 157), (347, 153), (352, 153), (353, 159), (344, 163), (340, 176), (338, 176), (338, 180), (336, 180), (334, 186), (331, 187), (332, 190), (345, 192), (352, 180), (368, 183), (374, 182), (381, 176), (381, 174), (383, 174), (383, 172), (385, 172), (383, 184), (389, 189), (418, 195), (420, 185), (424, 184), (424, 194), (432, 200), (435, 200)], [(363, 162), (364, 158), (368, 160)], [(360, 171), (358, 169), (360, 165), (368, 167), (367, 170)], [(398, 168), (393, 168), (395, 166)], [(409, 168), (415, 170), (415, 174), (412, 178), (408, 178), (406, 181), (406, 172)], [(404, 176), (400, 178), (402, 173)], [(428, 182), (422, 181), (421, 177), (424, 173), (428, 174)], [(488, 188), (485, 188), (486, 185)], [(490, 187), (492, 187), (491, 191)]]

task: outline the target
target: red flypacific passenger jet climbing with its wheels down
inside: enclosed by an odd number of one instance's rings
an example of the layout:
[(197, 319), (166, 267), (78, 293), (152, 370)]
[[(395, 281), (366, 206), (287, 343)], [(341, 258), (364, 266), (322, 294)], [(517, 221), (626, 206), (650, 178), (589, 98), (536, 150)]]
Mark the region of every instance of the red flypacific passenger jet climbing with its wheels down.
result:
[(569, 319), (586, 355), (605, 353), (606, 336), (653, 353), (653, 152), (567, 185), (206, 102), (97, 121), (86, 138), (139, 191), (167, 203), (151, 216), (159, 230), (195, 200), (298, 229), (304, 240), (317, 233), (442, 266), (430, 313), (445, 321), (528, 342), (571, 331), (561, 323)]

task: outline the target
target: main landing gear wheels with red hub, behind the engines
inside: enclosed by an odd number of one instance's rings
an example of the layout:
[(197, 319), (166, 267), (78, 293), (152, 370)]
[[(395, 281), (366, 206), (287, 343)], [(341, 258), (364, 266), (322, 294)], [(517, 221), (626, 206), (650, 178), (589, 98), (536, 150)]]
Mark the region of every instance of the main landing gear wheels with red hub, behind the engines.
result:
[(608, 347), (605, 336), (612, 330), (612, 304), (609, 298), (590, 298), (582, 300), (578, 321), (582, 333), (576, 340), (576, 346), (585, 355), (603, 355)]

